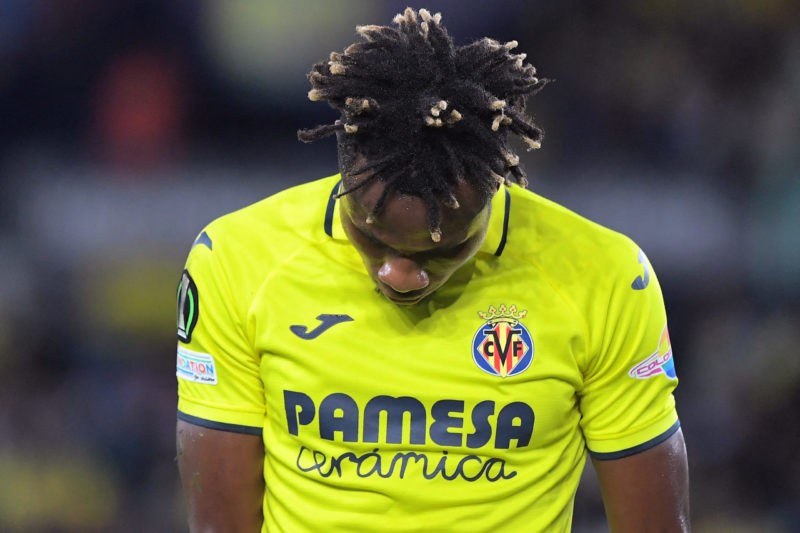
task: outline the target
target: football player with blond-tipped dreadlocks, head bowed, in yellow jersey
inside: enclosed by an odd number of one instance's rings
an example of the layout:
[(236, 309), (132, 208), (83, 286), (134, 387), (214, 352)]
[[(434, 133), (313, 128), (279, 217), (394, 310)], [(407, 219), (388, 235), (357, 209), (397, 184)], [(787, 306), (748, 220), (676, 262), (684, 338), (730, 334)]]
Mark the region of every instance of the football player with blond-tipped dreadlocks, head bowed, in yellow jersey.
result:
[(210, 224), (178, 289), (193, 531), (688, 529), (666, 314), (628, 238), (525, 189), (517, 43), (407, 9), (309, 74), (341, 173)]

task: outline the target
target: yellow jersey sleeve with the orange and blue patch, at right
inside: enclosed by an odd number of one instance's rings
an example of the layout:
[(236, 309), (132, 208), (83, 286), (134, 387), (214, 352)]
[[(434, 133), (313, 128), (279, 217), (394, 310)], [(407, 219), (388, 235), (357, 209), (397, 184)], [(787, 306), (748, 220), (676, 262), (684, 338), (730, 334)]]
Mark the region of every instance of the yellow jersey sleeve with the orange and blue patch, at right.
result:
[(639, 453), (679, 428), (672, 394), (678, 380), (658, 279), (627, 239), (614, 264), (612, 286), (594, 298), (593, 353), (580, 392), (581, 426), (596, 459)]

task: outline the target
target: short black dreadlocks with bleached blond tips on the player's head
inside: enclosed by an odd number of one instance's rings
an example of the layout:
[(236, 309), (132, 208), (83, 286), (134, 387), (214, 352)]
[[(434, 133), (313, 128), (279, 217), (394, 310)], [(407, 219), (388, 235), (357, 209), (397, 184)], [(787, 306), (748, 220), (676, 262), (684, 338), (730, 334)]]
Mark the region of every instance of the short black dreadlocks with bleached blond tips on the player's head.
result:
[(417, 196), (438, 241), (440, 202), (458, 208), (459, 179), (486, 201), (509, 173), (527, 186), (509, 133), (528, 150), (541, 146), (544, 132), (526, 116), (525, 99), (550, 80), (536, 77), (525, 54), (511, 53), (516, 41), (484, 38), (456, 47), (440, 13), (406, 8), (394, 23), (357, 26), (361, 42), (313, 66), (309, 99), (327, 101), (341, 119), (297, 136), (312, 142), (336, 133), (345, 178), (367, 175), (339, 196), (376, 179), (385, 184), (368, 223), (389, 195)]

